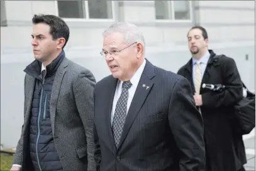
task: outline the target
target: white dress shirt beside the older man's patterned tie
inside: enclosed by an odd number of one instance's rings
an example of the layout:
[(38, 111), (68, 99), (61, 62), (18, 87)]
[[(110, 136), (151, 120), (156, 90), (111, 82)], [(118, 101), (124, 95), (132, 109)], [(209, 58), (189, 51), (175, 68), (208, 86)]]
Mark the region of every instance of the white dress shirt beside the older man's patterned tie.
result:
[[(138, 70), (135, 72), (135, 74), (133, 75), (133, 77), (130, 80), (132, 85), (131, 85), (131, 88), (129, 88), (129, 90), (128, 90), (128, 101), (127, 101), (126, 115), (130, 108), (131, 101), (133, 100), (133, 96), (134, 96), (136, 88), (138, 86), (138, 82), (140, 81), (140, 77), (142, 76), (145, 65), (146, 65), (146, 60), (143, 61), (140, 68), (138, 68)], [(118, 99), (120, 98), (120, 95), (121, 95), (122, 85), (123, 85), (123, 81), (118, 80), (118, 83), (116, 85), (116, 91), (114, 93), (112, 110), (111, 110), (111, 125), (112, 125), (113, 119), (114, 119), (114, 110), (116, 109), (116, 103), (118, 102)]]

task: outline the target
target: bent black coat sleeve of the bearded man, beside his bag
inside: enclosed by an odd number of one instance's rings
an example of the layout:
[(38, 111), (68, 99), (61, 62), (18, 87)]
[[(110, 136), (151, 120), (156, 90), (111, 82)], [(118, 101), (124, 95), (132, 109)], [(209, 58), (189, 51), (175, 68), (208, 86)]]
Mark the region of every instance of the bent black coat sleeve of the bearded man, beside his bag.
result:
[(219, 108), (235, 104), (243, 97), (242, 80), (238, 73), (235, 60), (224, 56), (220, 59), (223, 85), (226, 89), (221, 92), (209, 91), (202, 94), (203, 106)]

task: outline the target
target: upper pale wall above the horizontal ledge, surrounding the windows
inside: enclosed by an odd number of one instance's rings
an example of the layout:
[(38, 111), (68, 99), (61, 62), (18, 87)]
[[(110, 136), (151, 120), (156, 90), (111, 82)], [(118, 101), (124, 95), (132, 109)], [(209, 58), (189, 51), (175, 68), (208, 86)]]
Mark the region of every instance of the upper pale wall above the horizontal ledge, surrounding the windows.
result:
[[(33, 14), (57, 14), (55, 1), (4, 2), (8, 27), (1, 27), (1, 49), (29, 48)], [(166, 22), (155, 19), (154, 1), (116, 1), (114, 21), (128, 21), (140, 26), (148, 44), (185, 43), (187, 31), (194, 24), (204, 26), (211, 41), (253, 41), (255, 38), (255, 1), (193, 1), (192, 6), (194, 9), (192, 21)], [(17, 9), (22, 10), (22, 14), (13, 13)], [(66, 21), (70, 26), (67, 46), (101, 46), (101, 33), (113, 23), (113, 21), (79, 21), (79, 19)], [(241, 30), (247, 34), (241, 34)], [(7, 41), (8, 39), (16, 39), (16, 41)]]

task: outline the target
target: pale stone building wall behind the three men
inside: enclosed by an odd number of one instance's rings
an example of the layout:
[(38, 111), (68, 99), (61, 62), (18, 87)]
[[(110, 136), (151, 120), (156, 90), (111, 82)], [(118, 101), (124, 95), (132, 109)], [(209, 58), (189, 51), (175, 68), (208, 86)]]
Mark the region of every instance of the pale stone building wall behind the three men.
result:
[[(1, 1), (3, 4), (1, 21), (8, 26), (1, 27), (1, 143), (14, 147), (23, 124), (23, 70), (33, 61), (31, 18), (38, 13), (58, 13), (55, 1)], [(191, 21), (159, 21), (155, 19), (154, 1), (114, 1), (113, 21), (138, 25), (145, 36), (148, 60), (174, 72), (191, 58), (187, 31), (200, 24), (208, 31), (209, 48), (234, 58), (245, 85), (254, 91), (255, 1), (192, 1), (191, 4)], [(108, 76), (110, 72), (99, 51), (101, 33), (113, 21), (65, 21), (70, 27), (65, 47), (67, 57), (91, 70), (97, 81)]]

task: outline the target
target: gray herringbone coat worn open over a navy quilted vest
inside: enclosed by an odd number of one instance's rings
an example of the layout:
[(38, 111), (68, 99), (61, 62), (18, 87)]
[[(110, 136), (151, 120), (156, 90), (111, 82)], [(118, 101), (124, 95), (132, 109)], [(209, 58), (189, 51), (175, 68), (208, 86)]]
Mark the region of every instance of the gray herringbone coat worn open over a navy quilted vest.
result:
[[(50, 100), (50, 119), (55, 147), (64, 170), (95, 170), (93, 158), (93, 90), (89, 70), (64, 58), (55, 74)], [(25, 76), (24, 124), (14, 164), (29, 170), (29, 129), (35, 78)]]

